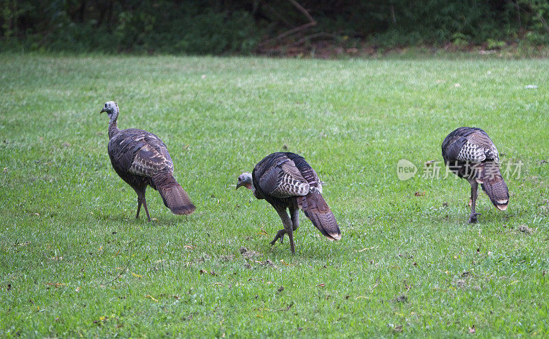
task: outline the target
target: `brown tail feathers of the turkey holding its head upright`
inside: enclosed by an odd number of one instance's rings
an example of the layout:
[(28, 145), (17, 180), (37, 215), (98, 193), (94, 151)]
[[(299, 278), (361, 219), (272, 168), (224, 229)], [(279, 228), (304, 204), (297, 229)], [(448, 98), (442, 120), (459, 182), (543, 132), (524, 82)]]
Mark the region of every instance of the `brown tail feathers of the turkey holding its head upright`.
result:
[(155, 174), (151, 178), (152, 184), (158, 189), (162, 200), (172, 213), (177, 215), (191, 214), (196, 207), (191, 202), (187, 192), (181, 187), (174, 176), (169, 172)]

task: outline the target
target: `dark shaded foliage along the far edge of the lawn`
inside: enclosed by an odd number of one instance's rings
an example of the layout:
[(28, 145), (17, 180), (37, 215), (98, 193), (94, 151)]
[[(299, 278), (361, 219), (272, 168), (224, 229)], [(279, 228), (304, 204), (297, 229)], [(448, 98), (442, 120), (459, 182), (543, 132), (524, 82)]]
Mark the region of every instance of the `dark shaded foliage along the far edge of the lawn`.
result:
[(0, 6), (4, 49), (249, 54), (315, 40), (347, 47), (549, 43), (546, 0), (4, 0)]

